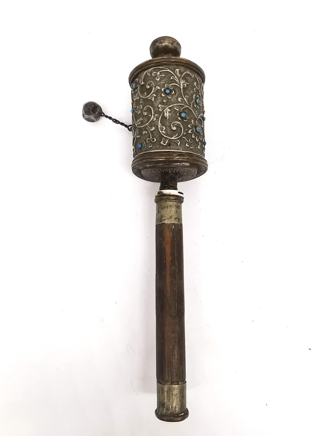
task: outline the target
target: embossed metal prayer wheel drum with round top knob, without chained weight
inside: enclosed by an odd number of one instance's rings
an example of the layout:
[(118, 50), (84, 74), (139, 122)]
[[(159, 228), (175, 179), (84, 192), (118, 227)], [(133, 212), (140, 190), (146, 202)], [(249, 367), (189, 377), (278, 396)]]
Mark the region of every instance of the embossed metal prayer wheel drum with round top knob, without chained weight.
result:
[(150, 46), (153, 59), (129, 75), (132, 90), (133, 173), (160, 182), (164, 174), (177, 181), (199, 177), (204, 159), (203, 70), (180, 58), (181, 45), (160, 37)]

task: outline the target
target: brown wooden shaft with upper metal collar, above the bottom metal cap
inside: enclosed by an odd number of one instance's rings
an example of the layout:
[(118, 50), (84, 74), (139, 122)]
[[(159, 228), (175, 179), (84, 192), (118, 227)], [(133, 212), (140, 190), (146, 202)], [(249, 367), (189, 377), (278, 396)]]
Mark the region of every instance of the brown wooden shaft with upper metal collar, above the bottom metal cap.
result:
[[(182, 201), (169, 195), (156, 198), (157, 381), (163, 385), (182, 384), (186, 377)], [(158, 210), (166, 210), (163, 219)]]

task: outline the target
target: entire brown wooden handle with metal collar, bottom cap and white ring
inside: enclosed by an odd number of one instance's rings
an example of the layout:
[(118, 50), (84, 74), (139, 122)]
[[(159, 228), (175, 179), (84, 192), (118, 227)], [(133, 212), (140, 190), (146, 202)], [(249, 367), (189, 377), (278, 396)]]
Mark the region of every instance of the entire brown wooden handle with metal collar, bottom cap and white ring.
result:
[(182, 421), (186, 408), (183, 225), (180, 191), (156, 193), (157, 418)]

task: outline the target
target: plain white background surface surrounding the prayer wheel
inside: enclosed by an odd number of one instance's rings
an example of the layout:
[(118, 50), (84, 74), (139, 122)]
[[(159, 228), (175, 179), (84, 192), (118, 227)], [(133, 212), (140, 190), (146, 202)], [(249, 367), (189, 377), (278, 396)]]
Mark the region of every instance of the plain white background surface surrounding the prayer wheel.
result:
[[(324, 1), (1, 7), (0, 435), (323, 435)], [(162, 35), (206, 73), (184, 191), (187, 406), (158, 421), (154, 191), (129, 72)]]

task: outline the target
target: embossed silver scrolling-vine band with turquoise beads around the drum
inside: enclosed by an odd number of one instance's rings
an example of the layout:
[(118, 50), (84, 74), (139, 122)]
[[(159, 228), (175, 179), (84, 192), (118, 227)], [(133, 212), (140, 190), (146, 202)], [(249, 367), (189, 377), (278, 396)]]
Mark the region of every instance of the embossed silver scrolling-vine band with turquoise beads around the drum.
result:
[(132, 84), (133, 157), (150, 150), (204, 156), (203, 82), (185, 68), (157, 67)]

